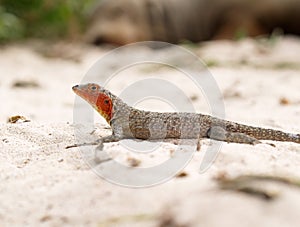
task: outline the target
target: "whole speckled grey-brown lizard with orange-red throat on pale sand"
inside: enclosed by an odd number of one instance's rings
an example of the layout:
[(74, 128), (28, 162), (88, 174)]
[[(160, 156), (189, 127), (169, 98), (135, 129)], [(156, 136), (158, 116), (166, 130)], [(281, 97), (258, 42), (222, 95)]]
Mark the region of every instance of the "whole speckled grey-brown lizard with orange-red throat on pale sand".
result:
[[(76, 85), (73, 91), (105, 118), (112, 135), (105, 142), (121, 139), (200, 139), (257, 144), (259, 140), (300, 143), (300, 134), (243, 125), (197, 113), (159, 113), (135, 109), (97, 84)], [(97, 144), (92, 143), (92, 144)]]

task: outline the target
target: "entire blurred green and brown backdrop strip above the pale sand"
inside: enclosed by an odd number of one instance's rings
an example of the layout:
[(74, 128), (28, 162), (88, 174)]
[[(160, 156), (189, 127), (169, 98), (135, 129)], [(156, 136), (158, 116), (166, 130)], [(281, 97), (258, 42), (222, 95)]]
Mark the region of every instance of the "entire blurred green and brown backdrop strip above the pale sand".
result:
[(127, 44), (300, 34), (299, 0), (0, 1), (0, 42)]

